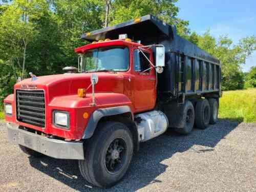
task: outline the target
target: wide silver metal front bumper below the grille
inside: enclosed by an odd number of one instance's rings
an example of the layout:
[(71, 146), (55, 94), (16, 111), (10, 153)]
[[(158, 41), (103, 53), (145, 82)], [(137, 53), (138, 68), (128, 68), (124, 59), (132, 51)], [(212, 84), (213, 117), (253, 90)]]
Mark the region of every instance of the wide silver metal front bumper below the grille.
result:
[(84, 159), (83, 143), (51, 139), (18, 129), (18, 125), (7, 123), (8, 140), (31, 148), (36, 152), (56, 159)]

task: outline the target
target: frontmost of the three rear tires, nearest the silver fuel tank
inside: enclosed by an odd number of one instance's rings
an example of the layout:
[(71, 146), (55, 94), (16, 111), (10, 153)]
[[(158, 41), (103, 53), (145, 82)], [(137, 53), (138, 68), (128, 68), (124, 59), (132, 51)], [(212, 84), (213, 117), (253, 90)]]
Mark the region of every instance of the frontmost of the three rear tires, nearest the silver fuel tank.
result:
[(195, 110), (193, 104), (190, 101), (187, 100), (185, 102), (182, 114), (182, 121), (184, 122), (184, 127), (175, 128), (175, 131), (182, 135), (188, 135), (192, 131), (195, 122)]

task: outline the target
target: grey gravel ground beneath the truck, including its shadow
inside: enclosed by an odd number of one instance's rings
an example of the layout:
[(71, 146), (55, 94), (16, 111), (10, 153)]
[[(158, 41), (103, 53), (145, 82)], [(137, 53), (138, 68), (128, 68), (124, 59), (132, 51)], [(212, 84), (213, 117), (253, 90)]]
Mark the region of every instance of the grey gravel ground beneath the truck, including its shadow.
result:
[(76, 161), (36, 159), (7, 142), (0, 122), (0, 191), (256, 191), (256, 124), (220, 120), (189, 136), (172, 131), (142, 143), (110, 189), (83, 181)]

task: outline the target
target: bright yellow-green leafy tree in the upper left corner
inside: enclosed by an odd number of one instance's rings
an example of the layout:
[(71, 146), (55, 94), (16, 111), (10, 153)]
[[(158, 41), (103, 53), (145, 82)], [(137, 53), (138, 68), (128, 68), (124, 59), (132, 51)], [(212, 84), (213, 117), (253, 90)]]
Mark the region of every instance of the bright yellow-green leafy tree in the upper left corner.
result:
[[(40, 17), (45, 1), (14, 1), (0, 17), (0, 41), (5, 50), (4, 58), (13, 69), (25, 76), (27, 49), (37, 35), (34, 20)], [(17, 64), (17, 66), (15, 66)], [(15, 74), (15, 71), (14, 71)]]

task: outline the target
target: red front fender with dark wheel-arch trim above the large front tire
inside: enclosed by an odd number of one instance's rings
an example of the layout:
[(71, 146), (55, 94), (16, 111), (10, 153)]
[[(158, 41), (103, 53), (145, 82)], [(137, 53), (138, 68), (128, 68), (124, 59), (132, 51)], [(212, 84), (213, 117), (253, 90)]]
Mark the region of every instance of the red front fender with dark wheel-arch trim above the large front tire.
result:
[[(98, 121), (104, 116), (131, 113), (133, 105), (126, 95), (120, 93), (95, 93), (96, 106), (91, 106), (92, 95), (81, 98), (77, 95), (55, 97), (50, 103), (48, 113), (52, 110), (70, 111), (70, 123), (76, 139), (90, 138)], [(83, 118), (88, 113), (89, 118)]]

